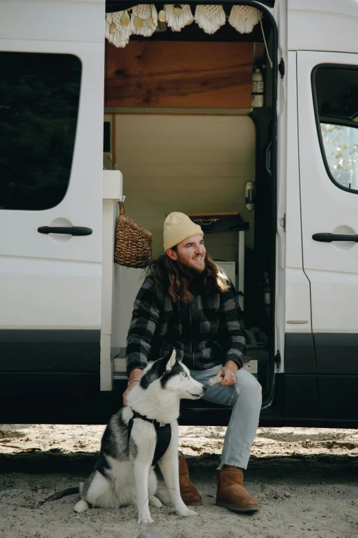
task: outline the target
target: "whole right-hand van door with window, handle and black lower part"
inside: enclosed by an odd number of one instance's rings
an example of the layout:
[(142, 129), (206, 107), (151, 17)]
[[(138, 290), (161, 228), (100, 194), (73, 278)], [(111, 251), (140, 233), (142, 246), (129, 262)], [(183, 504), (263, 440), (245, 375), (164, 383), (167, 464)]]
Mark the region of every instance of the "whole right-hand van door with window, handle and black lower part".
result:
[(324, 418), (357, 418), (358, 54), (298, 52), (303, 266)]

